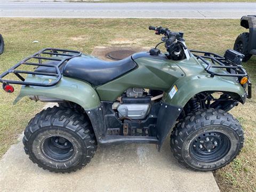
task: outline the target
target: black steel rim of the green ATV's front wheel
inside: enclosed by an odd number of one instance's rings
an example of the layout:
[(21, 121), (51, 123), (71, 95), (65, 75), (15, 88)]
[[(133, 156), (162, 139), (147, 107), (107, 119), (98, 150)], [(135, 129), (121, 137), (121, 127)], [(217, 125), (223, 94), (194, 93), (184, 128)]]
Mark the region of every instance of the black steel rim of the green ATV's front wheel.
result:
[(199, 162), (216, 162), (227, 155), (229, 137), (217, 131), (197, 135), (190, 144), (190, 155)]

